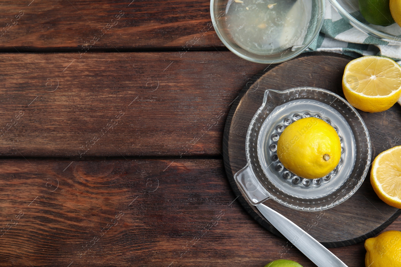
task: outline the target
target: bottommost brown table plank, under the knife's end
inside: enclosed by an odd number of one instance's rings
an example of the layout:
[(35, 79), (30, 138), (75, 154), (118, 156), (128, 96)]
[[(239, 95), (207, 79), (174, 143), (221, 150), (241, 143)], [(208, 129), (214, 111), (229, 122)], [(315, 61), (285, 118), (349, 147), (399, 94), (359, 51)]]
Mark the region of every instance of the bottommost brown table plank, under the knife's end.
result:
[[(315, 266), (243, 210), (221, 160), (70, 163), (0, 161), (1, 227), (23, 213), (0, 237), (1, 266)], [(364, 266), (362, 243), (330, 250)]]

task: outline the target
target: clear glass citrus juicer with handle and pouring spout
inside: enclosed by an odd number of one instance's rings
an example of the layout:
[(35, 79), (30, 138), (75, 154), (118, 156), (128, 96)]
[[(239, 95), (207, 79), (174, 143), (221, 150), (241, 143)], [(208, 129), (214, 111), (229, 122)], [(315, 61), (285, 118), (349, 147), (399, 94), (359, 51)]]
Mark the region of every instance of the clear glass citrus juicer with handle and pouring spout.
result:
[[(288, 171), (277, 157), (277, 141), (292, 122), (305, 117), (326, 121), (341, 141), (341, 159), (325, 177), (304, 179)], [(344, 98), (328, 90), (298, 87), (266, 90), (246, 136), (247, 165), (234, 175), (249, 202), (266, 199), (302, 211), (330, 209), (362, 185), (371, 162), (365, 122)]]

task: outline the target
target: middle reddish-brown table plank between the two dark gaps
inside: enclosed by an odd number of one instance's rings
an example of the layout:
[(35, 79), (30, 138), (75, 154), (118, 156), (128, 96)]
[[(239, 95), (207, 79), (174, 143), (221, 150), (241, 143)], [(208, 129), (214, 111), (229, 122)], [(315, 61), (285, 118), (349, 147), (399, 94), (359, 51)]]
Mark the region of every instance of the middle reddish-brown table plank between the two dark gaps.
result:
[(230, 104), (263, 68), (227, 51), (1, 54), (0, 155), (221, 155)]

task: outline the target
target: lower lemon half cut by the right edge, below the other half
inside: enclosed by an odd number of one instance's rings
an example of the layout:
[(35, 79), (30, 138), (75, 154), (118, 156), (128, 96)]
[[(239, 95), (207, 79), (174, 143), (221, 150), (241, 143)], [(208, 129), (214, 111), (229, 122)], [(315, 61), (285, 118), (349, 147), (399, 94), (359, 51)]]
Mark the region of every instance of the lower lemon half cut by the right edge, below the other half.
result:
[(381, 200), (401, 209), (401, 146), (380, 153), (372, 164), (371, 184)]

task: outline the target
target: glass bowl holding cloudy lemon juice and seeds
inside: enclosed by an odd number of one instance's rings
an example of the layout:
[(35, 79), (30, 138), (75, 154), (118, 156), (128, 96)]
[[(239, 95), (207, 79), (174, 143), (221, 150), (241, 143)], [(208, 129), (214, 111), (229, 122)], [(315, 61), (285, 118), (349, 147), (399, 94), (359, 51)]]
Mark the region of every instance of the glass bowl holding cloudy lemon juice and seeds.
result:
[(322, 28), (324, 0), (211, 0), (217, 36), (237, 56), (257, 63), (294, 58)]

